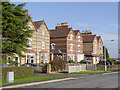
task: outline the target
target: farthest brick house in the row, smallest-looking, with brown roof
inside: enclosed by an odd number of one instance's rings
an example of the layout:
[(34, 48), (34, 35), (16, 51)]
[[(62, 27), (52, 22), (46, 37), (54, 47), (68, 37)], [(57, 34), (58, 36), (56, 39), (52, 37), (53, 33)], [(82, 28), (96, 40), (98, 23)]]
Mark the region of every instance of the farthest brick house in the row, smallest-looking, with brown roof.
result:
[(83, 53), (85, 59), (92, 64), (99, 63), (103, 60), (103, 43), (100, 36), (92, 35), (91, 31), (83, 31)]

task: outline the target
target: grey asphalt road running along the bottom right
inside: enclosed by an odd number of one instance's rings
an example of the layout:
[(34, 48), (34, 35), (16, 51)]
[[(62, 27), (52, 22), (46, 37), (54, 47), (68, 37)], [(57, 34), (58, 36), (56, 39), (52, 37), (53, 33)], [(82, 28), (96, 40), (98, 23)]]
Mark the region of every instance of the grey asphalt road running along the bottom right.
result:
[(118, 74), (87, 76), (85, 78), (23, 88), (118, 88)]

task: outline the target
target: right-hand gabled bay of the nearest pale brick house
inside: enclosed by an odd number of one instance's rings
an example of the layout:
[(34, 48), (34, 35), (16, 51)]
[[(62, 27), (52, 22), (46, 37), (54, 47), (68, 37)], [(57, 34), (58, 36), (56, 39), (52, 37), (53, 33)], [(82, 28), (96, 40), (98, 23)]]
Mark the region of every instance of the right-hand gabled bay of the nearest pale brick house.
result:
[(36, 52), (37, 63), (49, 63), (50, 60), (50, 32), (45, 21), (34, 22), (37, 28)]

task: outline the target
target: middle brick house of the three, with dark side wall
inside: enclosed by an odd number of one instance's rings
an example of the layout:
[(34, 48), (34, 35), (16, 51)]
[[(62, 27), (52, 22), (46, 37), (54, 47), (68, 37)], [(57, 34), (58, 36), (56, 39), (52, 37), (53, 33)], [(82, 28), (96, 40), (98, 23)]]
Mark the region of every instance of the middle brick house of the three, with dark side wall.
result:
[[(77, 62), (76, 55), (82, 53), (82, 51), (79, 53), (76, 52), (76, 45), (78, 45), (76, 38), (79, 36), (80, 33), (77, 32), (75, 35), (74, 30), (72, 28), (69, 28), (68, 23), (60, 23), (55, 27), (55, 29), (50, 30), (50, 44), (52, 53), (51, 60), (53, 60), (53, 57), (55, 55), (53, 50), (56, 52), (58, 50), (61, 52), (61, 57), (64, 58), (64, 60), (73, 60)], [(81, 40), (82, 38), (80, 37), (80, 44)], [(79, 49), (82, 50), (82, 47), (79, 47)]]

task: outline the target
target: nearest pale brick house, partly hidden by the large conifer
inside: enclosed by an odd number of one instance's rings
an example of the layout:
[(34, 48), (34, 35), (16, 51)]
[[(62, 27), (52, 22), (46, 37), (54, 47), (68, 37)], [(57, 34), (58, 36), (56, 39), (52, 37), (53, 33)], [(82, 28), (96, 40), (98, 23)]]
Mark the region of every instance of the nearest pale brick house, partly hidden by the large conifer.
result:
[[(8, 61), (17, 61), (20, 65), (24, 63), (42, 64), (49, 63), (50, 60), (50, 32), (45, 21), (28, 23), (29, 30), (34, 30), (31, 38), (28, 38), (28, 45), (26, 52), (22, 52), (24, 57), (8, 56)], [(9, 64), (9, 63), (8, 63)]]

